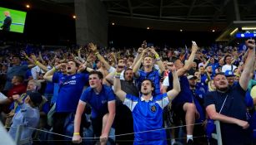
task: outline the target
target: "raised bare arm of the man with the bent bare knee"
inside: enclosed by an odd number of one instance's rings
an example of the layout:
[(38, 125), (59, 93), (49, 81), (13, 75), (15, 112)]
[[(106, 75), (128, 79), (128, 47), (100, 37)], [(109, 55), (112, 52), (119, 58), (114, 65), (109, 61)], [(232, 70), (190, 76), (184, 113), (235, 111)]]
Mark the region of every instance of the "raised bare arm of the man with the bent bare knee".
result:
[(191, 69), (191, 67), (193, 66), (193, 60), (194, 60), (194, 57), (195, 57), (197, 51), (198, 51), (198, 46), (197, 46), (197, 44), (194, 42), (194, 43), (192, 44), (191, 54), (190, 54), (190, 56), (189, 56), (189, 58), (188, 58), (188, 61), (187, 61), (186, 64), (183, 66), (183, 68), (178, 69), (178, 71), (177, 71), (177, 75), (178, 75), (178, 76), (184, 75), (188, 70)]

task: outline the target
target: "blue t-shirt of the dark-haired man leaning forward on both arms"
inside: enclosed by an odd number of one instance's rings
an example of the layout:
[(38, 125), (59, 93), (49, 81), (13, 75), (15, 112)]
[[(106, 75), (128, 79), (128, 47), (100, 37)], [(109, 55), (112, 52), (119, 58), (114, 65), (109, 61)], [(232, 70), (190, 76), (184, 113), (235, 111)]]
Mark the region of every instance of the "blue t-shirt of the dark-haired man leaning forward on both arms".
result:
[(104, 114), (108, 114), (108, 102), (115, 99), (113, 89), (107, 85), (103, 85), (103, 89), (99, 94), (96, 94), (91, 87), (88, 87), (80, 97), (80, 100), (92, 106), (92, 118), (103, 117)]

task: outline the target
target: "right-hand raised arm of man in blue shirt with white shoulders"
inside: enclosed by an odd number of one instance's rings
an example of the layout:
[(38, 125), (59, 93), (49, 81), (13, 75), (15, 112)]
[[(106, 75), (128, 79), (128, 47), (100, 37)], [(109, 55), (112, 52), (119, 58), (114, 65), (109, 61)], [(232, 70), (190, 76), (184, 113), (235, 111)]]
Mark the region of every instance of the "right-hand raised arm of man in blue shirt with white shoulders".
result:
[(172, 62), (168, 62), (168, 69), (171, 70), (173, 74), (173, 89), (167, 92), (169, 101), (172, 101), (180, 92), (180, 84), (176, 72), (176, 67)]

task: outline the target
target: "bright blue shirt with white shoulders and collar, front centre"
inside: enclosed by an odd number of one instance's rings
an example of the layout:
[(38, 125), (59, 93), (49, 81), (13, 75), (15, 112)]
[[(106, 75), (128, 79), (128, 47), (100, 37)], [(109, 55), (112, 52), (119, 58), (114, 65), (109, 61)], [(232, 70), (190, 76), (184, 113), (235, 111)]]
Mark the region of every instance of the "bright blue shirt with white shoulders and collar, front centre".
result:
[[(159, 94), (148, 102), (131, 94), (126, 95), (123, 104), (127, 105), (133, 113), (134, 145), (167, 144), (165, 130), (162, 128), (163, 108), (168, 103), (169, 100), (166, 93)], [(138, 133), (143, 131), (149, 132)]]

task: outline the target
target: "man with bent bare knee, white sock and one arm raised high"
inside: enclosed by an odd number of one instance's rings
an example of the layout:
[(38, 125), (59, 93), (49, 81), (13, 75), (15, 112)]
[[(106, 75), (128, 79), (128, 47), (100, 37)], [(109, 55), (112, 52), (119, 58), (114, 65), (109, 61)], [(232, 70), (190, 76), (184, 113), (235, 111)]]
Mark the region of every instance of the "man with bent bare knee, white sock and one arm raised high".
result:
[[(180, 118), (183, 123), (186, 123), (186, 131), (187, 131), (187, 144), (193, 145), (193, 125), (195, 123), (196, 117), (198, 117), (198, 111), (196, 109), (195, 104), (193, 103), (193, 94), (189, 89), (188, 78), (185, 75), (188, 70), (193, 66), (193, 60), (196, 52), (198, 51), (197, 44), (193, 41), (191, 54), (186, 62), (183, 65), (181, 60), (175, 60), (174, 65), (177, 69), (177, 75), (179, 77), (179, 83), (181, 87), (181, 91), (178, 96), (173, 99), (172, 102), (172, 110), (175, 114), (177, 114), (178, 118)], [(167, 92), (169, 89), (173, 89), (172, 82), (173, 76), (171, 73), (168, 74), (163, 80), (163, 93)]]

